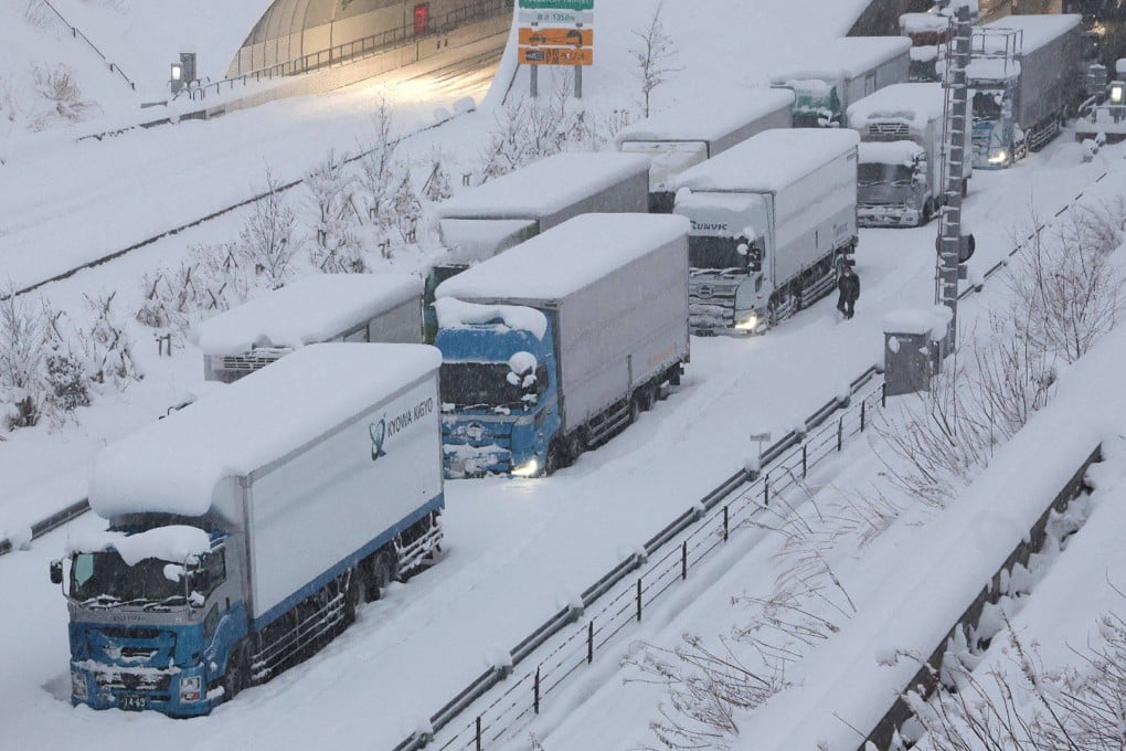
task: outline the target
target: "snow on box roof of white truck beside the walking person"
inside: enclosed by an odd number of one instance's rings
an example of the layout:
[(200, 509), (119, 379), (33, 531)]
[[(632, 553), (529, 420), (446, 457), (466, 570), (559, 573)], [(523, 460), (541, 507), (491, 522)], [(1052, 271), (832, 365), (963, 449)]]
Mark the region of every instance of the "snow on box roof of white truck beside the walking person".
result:
[(848, 128), (763, 131), (686, 170), (676, 187), (691, 190), (775, 193), (830, 160), (855, 150), (860, 134)]

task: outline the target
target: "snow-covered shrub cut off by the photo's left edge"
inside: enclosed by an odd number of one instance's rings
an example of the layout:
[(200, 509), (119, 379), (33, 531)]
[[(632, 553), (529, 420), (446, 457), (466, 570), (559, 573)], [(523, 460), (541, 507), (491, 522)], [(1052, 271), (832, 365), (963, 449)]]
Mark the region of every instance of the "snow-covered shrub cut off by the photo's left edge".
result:
[(0, 419), (7, 429), (29, 428), (43, 417), (51, 385), (45, 311), (12, 289), (0, 289)]

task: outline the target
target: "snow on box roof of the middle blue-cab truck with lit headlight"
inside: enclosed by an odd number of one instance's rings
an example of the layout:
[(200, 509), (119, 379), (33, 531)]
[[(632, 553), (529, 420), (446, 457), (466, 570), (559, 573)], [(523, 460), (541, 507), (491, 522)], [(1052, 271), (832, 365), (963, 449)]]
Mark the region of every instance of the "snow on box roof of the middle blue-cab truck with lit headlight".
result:
[(688, 230), (687, 218), (670, 214), (582, 214), (446, 279), (435, 295), (563, 299)]

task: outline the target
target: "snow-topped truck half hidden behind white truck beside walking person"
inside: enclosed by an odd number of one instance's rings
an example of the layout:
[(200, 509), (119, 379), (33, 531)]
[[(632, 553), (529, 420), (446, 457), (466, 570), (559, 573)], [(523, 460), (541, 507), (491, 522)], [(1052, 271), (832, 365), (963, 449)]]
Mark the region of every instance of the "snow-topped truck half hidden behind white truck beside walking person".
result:
[(668, 214), (678, 175), (757, 133), (790, 127), (793, 107), (787, 89), (740, 89), (627, 125), (615, 143), (620, 152), (649, 157), (649, 211)]

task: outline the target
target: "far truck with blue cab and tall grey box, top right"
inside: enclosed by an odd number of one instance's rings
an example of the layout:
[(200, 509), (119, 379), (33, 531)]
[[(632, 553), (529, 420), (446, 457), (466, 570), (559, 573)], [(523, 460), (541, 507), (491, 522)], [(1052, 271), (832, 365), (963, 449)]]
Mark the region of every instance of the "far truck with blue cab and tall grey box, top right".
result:
[(974, 29), (974, 167), (1006, 168), (1043, 149), (1083, 96), (1078, 15), (1007, 16)]

